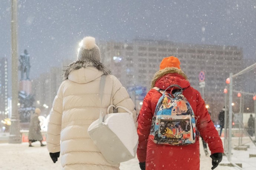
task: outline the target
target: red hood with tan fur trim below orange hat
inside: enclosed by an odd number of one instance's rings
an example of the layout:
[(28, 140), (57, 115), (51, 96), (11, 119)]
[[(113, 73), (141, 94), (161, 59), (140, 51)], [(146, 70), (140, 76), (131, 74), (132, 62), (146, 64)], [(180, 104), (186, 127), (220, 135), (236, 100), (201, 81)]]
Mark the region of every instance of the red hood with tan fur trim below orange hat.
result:
[[(151, 80), (150, 88), (153, 88), (154, 86), (156, 86), (157, 80), (160, 79), (160, 78), (163, 78), (167, 74), (172, 74), (172, 76), (174, 76), (174, 77), (179, 77), (179, 80), (184, 82), (184, 86), (186, 86), (186, 87), (190, 86), (187, 75), (181, 69), (178, 69), (178, 68), (175, 68), (175, 67), (167, 67), (167, 68), (164, 68), (164, 69), (155, 73), (155, 75), (153, 76), (153, 78)], [(160, 81), (160, 80), (158, 80), (158, 81)], [(170, 81), (177, 81), (177, 80), (172, 79)], [(165, 80), (163, 80), (163, 82), (167, 85), (171, 84), (170, 81), (167, 80), (167, 78), (165, 78)], [(157, 84), (159, 84), (159, 82)], [(165, 85), (165, 86), (167, 86), (167, 85)], [(158, 87), (158, 88), (163, 88), (164, 89), (164, 88), (167, 88), (167, 87), (161, 86), (161, 87)]]

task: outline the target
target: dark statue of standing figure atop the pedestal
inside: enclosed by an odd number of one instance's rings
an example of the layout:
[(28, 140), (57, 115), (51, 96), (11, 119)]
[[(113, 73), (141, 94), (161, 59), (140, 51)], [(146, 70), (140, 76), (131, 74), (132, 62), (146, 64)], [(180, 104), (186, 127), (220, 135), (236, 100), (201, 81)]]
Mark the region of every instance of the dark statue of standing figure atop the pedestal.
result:
[(29, 61), (29, 53), (27, 50), (24, 50), (24, 53), (20, 55), (20, 65), (19, 70), (21, 71), (21, 79), (24, 80), (24, 73), (26, 72), (26, 79), (29, 80), (29, 70), (30, 70), (30, 61)]

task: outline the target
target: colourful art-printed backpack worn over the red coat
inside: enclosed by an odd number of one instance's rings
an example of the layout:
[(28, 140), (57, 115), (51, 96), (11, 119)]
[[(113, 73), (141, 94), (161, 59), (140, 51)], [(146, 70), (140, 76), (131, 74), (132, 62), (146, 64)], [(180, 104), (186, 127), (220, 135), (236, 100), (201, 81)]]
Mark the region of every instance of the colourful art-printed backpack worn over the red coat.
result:
[[(174, 87), (180, 88), (172, 94)], [(170, 94), (165, 92), (171, 88)], [(162, 90), (153, 89), (163, 95), (157, 102), (152, 118), (150, 135), (154, 136), (154, 143), (162, 145), (188, 145), (196, 141), (197, 128), (193, 109), (182, 94), (179, 85), (171, 85)]]

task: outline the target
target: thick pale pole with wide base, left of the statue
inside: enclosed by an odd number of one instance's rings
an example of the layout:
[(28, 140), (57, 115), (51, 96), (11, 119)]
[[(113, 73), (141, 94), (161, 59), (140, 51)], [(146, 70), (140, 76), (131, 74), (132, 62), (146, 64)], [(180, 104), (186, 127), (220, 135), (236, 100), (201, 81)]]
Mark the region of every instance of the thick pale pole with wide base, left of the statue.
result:
[(21, 143), (18, 112), (18, 52), (17, 52), (17, 0), (12, 0), (12, 118), (9, 143)]

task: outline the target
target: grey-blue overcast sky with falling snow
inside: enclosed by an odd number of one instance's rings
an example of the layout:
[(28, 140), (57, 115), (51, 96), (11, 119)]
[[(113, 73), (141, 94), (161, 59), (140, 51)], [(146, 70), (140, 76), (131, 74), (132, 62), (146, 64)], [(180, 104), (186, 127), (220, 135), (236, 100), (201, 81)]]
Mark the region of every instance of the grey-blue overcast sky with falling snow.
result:
[[(10, 13), (11, 0), (1, 0), (0, 57), (11, 58)], [(256, 61), (255, 0), (18, 0), (18, 25), (18, 54), (29, 52), (32, 78), (75, 58), (87, 35), (236, 45)]]

